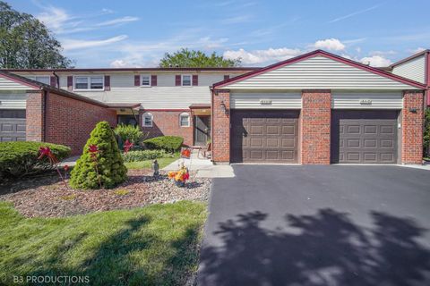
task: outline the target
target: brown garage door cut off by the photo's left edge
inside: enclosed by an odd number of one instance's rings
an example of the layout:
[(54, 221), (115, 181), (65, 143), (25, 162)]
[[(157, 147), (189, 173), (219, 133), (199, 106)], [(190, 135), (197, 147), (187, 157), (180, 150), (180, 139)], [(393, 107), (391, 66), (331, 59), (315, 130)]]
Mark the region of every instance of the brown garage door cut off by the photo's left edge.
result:
[(25, 141), (25, 110), (0, 109), (0, 141)]

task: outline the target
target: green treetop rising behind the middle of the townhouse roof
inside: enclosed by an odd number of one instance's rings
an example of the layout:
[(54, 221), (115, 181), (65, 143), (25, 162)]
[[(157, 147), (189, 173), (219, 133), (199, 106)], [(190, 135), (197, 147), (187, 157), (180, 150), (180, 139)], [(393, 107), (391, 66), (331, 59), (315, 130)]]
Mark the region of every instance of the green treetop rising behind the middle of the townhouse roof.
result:
[(239, 66), (240, 63), (240, 59), (228, 60), (215, 52), (206, 55), (202, 51), (182, 48), (174, 54), (166, 53), (160, 60), (159, 66), (162, 68), (226, 68)]

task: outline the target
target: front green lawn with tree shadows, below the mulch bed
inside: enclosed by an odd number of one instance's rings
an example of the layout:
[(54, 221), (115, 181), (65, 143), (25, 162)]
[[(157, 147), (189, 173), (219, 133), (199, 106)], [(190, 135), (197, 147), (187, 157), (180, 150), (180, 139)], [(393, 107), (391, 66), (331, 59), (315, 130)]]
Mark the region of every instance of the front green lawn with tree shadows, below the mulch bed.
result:
[(206, 215), (204, 203), (182, 201), (29, 219), (0, 202), (0, 284), (83, 275), (91, 285), (183, 285), (197, 269)]

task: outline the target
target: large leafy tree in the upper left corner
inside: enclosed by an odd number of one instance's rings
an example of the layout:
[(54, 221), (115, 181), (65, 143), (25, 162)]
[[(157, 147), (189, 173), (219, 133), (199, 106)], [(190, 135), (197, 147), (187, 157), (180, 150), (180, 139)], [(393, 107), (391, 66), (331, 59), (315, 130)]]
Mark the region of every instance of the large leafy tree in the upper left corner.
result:
[(70, 67), (72, 62), (61, 51), (60, 42), (43, 23), (0, 1), (0, 68)]

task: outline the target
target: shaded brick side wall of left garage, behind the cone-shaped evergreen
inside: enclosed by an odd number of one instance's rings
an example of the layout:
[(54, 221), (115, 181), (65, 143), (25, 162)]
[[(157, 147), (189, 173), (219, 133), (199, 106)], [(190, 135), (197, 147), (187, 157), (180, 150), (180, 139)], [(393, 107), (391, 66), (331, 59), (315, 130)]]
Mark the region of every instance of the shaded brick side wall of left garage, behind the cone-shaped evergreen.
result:
[[(116, 126), (116, 111), (99, 105), (47, 94), (45, 141), (72, 148), (72, 155), (80, 155), (98, 122)], [(27, 106), (29, 103), (27, 102)], [(27, 107), (28, 108), (28, 107)]]

